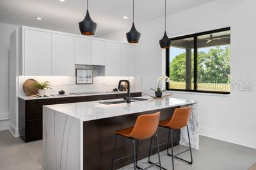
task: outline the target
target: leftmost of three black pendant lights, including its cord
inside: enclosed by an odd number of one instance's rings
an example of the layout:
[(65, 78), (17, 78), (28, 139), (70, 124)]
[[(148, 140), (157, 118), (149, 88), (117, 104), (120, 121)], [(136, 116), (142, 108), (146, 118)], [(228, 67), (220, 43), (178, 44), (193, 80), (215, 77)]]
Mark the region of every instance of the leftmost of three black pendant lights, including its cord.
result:
[(79, 22), (79, 29), (82, 35), (94, 35), (97, 28), (97, 24), (93, 22), (88, 11), (88, 0), (87, 0), (87, 11), (84, 20)]

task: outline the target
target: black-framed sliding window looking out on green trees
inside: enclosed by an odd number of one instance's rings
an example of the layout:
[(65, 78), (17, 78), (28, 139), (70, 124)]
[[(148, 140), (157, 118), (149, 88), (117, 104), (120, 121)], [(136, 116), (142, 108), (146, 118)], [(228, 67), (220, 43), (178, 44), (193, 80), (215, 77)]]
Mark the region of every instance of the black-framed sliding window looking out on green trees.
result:
[(171, 38), (166, 89), (230, 93), (230, 27)]

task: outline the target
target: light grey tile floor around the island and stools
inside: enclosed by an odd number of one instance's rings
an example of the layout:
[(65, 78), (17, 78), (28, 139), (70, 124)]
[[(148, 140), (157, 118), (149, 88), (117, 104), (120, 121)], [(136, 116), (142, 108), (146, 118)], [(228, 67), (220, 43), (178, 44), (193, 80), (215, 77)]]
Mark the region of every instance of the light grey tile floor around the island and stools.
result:
[[(176, 146), (174, 151), (184, 149), (186, 147)], [(189, 152), (180, 156), (189, 158)], [(152, 160), (157, 162), (157, 157), (153, 156)], [(166, 151), (161, 153), (161, 160), (163, 167), (172, 169), (171, 158), (166, 156)], [(175, 170), (254, 170), (256, 150), (200, 136), (200, 150), (193, 150), (193, 161), (193, 165), (189, 165), (175, 160)], [(148, 166), (144, 163), (147, 160), (140, 162), (142, 162), (141, 166)], [(35, 169), (42, 169), (42, 141), (24, 143), (19, 137), (13, 137), (8, 130), (0, 131), (0, 170)], [(131, 165), (122, 169), (133, 169), (133, 167)]]

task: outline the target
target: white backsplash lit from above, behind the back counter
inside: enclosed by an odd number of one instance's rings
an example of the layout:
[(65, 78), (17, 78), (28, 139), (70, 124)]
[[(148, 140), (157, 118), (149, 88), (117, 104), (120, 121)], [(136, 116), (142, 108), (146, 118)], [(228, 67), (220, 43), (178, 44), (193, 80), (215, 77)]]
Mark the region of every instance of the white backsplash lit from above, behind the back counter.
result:
[(27, 79), (35, 79), (39, 82), (51, 82), (51, 88), (47, 94), (57, 94), (63, 89), (66, 94), (72, 92), (86, 91), (113, 91), (118, 88), (118, 82), (126, 79), (131, 82), (131, 91), (141, 91), (141, 77), (93, 77), (93, 84), (76, 84), (76, 77), (68, 76), (19, 76), (19, 96), (24, 97), (26, 94), (23, 90), (23, 83)]

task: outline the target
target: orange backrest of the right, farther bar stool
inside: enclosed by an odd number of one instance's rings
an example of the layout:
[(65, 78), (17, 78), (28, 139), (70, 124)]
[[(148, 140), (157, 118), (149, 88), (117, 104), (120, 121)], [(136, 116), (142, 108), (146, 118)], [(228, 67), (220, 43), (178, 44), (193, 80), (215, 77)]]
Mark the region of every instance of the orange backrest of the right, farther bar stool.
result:
[(182, 107), (175, 109), (172, 118), (168, 123), (169, 127), (173, 129), (180, 129), (185, 127), (189, 121), (190, 112), (191, 107)]

